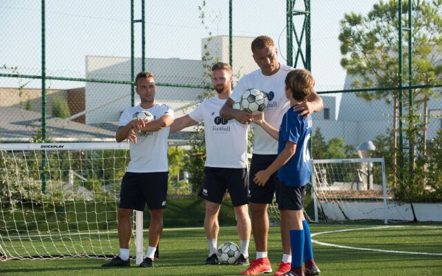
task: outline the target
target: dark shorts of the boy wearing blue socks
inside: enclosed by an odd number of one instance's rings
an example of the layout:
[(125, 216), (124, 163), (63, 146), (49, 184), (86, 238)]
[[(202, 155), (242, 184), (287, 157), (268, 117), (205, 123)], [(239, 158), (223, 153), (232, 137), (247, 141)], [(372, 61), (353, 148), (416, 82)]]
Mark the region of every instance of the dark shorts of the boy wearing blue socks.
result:
[(276, 188), (276, 202), (278, 202), (279, 210), (302, 210), (304, 197), (305, 186), (286, 186), (281, 182)]

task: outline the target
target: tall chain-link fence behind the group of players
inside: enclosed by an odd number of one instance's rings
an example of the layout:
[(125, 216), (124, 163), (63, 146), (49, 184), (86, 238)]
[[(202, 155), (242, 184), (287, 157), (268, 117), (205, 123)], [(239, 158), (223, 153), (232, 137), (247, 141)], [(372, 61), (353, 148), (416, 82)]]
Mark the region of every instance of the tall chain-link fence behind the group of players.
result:
[(0, 140), (113, 141), (122, 110), (138, 102), (141, 70), (179, 117), (211, 86), (213, 61), (231, 63), (235, 81), (258, 69), (250, 43), (266, 34), (281, 63), (316, 78), (315, 141), (325, 145), (316, 157), (354, 157), (372, 141), (372, 157), (419, 166), (442, 140), (442, 12), (438, 1), (412, 1), (410, 24), (407, 3), (2, 1)]

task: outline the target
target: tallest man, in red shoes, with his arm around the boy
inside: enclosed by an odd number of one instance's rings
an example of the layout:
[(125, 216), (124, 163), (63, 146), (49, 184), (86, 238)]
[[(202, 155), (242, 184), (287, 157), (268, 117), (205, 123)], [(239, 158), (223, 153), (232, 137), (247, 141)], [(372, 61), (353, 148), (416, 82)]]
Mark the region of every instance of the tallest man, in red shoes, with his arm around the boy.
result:
[[(239, 101), (245, 90), (256, 88), (266, 92), (269, 104), (265, 109), (265, 118), (274, 128), (279, 128), (282, 117), (289, 108), (288, 99), (285, 97), (285, 77), (294, 68), (285, 66), (278, 61), (278, 49), (273, 40), (267, 36), (256, 37), (251, 43), (253, 59), (260, 69), (245, 75), (238, 81), (230, 98), (224, 103), (220, 115), (224, 119), (236, 119), (242, 124), (249, 124), (253, 116), (244, 110), (234, 110), (233, 103)], [(323, 101), (312, 92), (304, 103), (298, 104), (294, 110), (299, 111), (299, 116), (307, 118), (312, 112), (320, 111)], [(253, 155), (249, 175), (251, 210), (251, 226), (256, 244), (256, 259), (251, 266), (242, 272), (243, 275), (256, 275), (270, 273), (271, 265), (267, 258), (267, 235), (269, 233), (269, 217), (267, 207), (273, 200), (275, 189), (279, 181), (274, 173), (264, 186), (258, 186), (253, 182), (256, 172), (265, 170), (275, 159), (278, 153), (278, 141), (270, 137), (262, 128), (255, 128), (253, 141)], [(282, 210), (283, 211), (283, 210)], [(274, 275), (280, 276), (290, 270), (291, 249), (289, 229), (285, 221), (281, 221), (282, 237), (282, 262)]]

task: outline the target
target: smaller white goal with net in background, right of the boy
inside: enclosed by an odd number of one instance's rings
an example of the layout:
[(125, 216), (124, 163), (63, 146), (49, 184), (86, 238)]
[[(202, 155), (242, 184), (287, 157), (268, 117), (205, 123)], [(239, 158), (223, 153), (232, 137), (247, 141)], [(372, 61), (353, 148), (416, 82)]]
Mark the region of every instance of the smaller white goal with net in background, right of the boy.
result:
[[(314, 159), (311, 175), (313, 210), (309, 221), (361, 221), (413, 219), (408, 204), (396, 204), (387, 187), (383, 158)], [(279, 224), (276, 203), (269, 206), (269, 220)]]

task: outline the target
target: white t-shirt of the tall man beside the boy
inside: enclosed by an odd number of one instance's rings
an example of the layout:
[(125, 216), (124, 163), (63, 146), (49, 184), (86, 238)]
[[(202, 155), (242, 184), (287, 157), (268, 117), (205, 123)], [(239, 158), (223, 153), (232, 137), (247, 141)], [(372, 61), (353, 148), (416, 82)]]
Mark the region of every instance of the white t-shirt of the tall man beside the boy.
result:
[[(253, 71), (238, 81), (230, 97), (235, 102), (239, 101), (242, 93), (251, 88), (266, 92), (269, 104), (264, 111), (265, 120), (274, 128), (279, 129), (282, 117), (290, 107), (289, 99), (285, 97), (285, 77), (291, 70), (294, 70), (294, 68), (280, 64), (278, 72), (271, 76), (262, 75), (260, 69)], [(278, 154), (278, 141), (268, 135), (261, 127), (256, 126), (253, 153), (276, 155)]]

